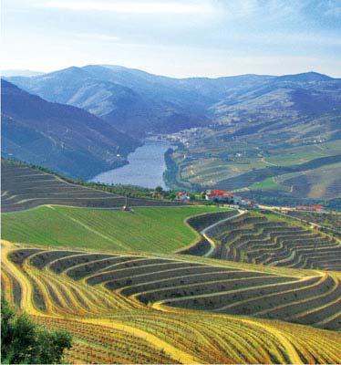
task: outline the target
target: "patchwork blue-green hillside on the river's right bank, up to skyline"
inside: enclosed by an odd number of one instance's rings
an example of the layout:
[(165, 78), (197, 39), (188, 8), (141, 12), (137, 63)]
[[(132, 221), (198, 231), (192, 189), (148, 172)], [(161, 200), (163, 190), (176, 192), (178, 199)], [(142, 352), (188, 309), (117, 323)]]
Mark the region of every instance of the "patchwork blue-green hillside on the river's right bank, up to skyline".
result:
[(210, 107), (209, 129), (176, 136), (169, 185), (274, 204), (340, 198), (340, 88), (340, 79), (310, 72), (232, 89)]

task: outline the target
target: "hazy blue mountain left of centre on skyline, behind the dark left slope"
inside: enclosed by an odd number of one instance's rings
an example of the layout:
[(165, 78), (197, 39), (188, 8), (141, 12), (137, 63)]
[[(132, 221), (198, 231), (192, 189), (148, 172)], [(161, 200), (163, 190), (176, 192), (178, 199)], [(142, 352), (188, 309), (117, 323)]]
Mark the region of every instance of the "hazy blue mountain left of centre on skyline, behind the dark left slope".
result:
[(195, 95), (181, 87), (174, 89), (171, 79), (168, 82), (168, 78), (138, 70), (87, 66), (66, 68), (35, 78), (8, 79), (49, 101), (88, 110), (137, 137), (207, 123), (202, 113), (189, 108), (197, 98)]

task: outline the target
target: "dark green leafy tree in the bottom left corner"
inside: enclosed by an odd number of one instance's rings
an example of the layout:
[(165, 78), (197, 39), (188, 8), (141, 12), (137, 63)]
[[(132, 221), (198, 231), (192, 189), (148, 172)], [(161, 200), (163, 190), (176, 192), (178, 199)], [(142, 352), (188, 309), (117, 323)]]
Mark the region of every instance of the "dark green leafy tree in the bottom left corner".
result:
[(1, 358), (5, 364), (60, 363), (64, 349), (71, 349), (71, 335), (42, 328), (26, 313), (18, 315), (1, 297)]

